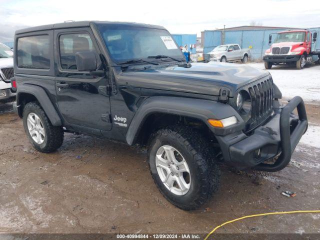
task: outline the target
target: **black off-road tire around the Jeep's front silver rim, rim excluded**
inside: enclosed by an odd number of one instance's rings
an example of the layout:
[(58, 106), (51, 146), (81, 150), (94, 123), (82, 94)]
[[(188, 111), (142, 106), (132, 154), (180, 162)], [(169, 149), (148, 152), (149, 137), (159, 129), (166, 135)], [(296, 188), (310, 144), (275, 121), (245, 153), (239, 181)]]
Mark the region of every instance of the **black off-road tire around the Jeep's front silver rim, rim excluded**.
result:
[[(185, 158), (190, 170), (188, 192), (176, 195), (162, 183), (155, 166), (155, 154), (160, 146), (170, 145)], [(218, 151), (195, 129), (174, 125), (158, 129), (148, 141), (148, 164), (152, 178), (162, 195), (183, 210), (193, 210), (210, 199), (219, 185), (220, 170), (216, 164)]]

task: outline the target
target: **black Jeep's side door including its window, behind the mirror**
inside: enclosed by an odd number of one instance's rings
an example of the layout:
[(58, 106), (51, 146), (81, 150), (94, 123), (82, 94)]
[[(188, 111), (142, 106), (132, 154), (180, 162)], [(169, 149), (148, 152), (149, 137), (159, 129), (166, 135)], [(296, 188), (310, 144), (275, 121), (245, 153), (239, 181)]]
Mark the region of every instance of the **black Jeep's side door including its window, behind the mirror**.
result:
[[(93, 51), (103, 69), (99, 49), (89, 28), (54, 30), (57, 103), (64, 125), (100, 134), (111, 129), (107, 76), (78, 71), (75, 53)], [(106, 74), (107, 75), (107, 74)]]

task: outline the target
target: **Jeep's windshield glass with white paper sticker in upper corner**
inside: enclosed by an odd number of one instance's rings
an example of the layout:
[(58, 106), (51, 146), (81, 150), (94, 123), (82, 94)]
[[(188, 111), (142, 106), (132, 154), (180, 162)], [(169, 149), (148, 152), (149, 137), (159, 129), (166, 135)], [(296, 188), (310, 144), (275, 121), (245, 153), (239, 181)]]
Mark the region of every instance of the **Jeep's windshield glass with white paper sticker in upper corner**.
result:
[[(97, 26), (111, 58), (116, 61), (156, 55), (183, 57), (167, 30), (103, 23), (97, 23)], [(148, 60), (157, 61), (156, 58)]]

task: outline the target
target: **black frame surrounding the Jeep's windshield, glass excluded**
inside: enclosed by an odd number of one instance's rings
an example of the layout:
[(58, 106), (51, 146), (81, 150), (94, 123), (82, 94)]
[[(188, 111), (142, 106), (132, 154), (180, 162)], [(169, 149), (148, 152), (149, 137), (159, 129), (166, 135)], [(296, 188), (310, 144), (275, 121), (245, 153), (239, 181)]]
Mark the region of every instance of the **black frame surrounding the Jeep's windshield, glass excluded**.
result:
[[(99, 38), (99, 40), (100, 40), (100, 44), (103, 46), (103, 48), (104, 48), (104, 50), (106, 51), (106, 53), (107, 53), (107, 58), (108, 58), (108, 60), (109, 61), (111, 61), (112, 63), (114, 63), (115, 65), (117, 65), (117, 66), (121, 66), (121, 65), (123, 65), (123, 63), (122, 64), (120, 64), (121, 62), (124, 62), (124, 61), (130, 61), (130, 60), (139, 60), (139, 59), (141, 59), (142, 61), (137, 61), (137, 62), (132, 62), (132, 63), (127, 63), (126, 65), (150, 65), (150, 63), (147, 63), (147, 62), (144, 62), (143, 60), (146, 60), (146, 61), (152, 61), (152, 62), (154, 62), (154, 63), (159, 63), (159, 65), (163, 62), (164, 64), (167, 64), (168, 62), (172, 62), (172, 61), (174, 61), (174, 62), (176, 62), (176, 63), (178, 63), (177, 61), (175, 61), (175, 60), (173, 60), (173, 59), (171, 59), (171, 58), (169, 58), (169, 57), (167, 57), (167, 58), (158, 58), (158, 59), (156, 59), (156, 58), (154, 58), (154, 59), (150, 59), (150, 58), (148, 58), (148, 56), (144, 56), (144, 57), (132, 57), (132, 58), (127, 58), (127, 59), (116, 59), (116, 58), (114, 58), (113, 56), (112, 56), (112, 54), (109, 52), (109, 50), (108, 50), (108, 47), (106, 46), (106, 43), (105, 43), (105, 41), (104, 41), (104, 38), (103, 38), (103, 36), (102, 36), (102, 32), (100, 31), (100, 29), (99, 29), (99, 26), (100, 25), (105, 25), (105, 26), (112, 26), (112, 27), (116, 27), (116, 26), (127, 26), (128, 28), (133, 28), (133, 27), (140, 27), (140, 28), (151, 28), (151, 29), (158, 29), (158, 30), (164, 30), (164, 31), (166, 31), (167, 32), (167, 35), (168, 36), (171, 36), (171, 38), (172, 38), (172, 40), (173, 40), (173, 42), (175, 43), (175, 45), (176, 45), (176, 47), (177, 47), (177, 49), (179, 50), (179, 54), (178, 55), (169, 55), (169, 56), (172, 56), (172, 57), (174, 57), (174, 58), (178, 58), (178, 59), (180, 59), (180, 60), (182, 60), (182, 61), (185, 61), (185, 57), (184, 57), (184, 55), (183, 55), (183, 53), (182, 53), (182, 51), (180, 50), (180, 47), (178, 46), (178, 44), (176, 43), (176, 41), (174, 40), (174, 38), (173, 38), (173, 36), (171, 35), (171, 33), (167, 30), (167, 29), (165, 29), (164, 27), (161, 27), (161, 26), (155, 26), (155, 25), (148, 25), (148, 24), (142, 24), (142, 23), (126, 23), (126, 22), (94, 22), (94, 31), (95, 31), (95, 33), (98, 35), (98, 38)], [(165, 54), (163, 54), (163, 55), (165, 55)], [(167, 54), (166, 54), (167, 55)], [(181, 62), (179, 62), (179, 63), (181, 63)], [(113, 64), (112, 64), (112, 66), (113, 66)]]

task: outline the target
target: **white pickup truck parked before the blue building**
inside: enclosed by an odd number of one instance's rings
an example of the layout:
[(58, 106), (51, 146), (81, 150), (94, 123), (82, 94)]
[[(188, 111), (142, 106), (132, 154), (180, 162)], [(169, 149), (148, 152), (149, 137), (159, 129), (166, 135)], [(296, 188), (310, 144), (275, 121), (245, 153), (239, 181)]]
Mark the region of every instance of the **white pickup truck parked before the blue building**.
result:
[(250, 56), (250, 49), (241, 49), (238, 44), (225, 44), (216, 46), (208, 54), (210, 55), (210, 61), (227, 62), (241, 60), (242, 63), (246, 63)]

